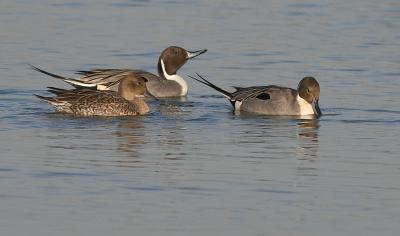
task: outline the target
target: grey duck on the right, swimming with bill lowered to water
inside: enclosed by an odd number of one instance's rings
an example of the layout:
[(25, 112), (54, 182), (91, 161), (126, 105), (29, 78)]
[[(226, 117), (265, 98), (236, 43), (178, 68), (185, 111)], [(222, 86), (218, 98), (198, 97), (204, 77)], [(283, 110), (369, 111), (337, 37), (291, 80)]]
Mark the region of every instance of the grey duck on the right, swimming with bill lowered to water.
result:
[(235, 111), (252, 112), (265, 115), (322, 115), (318, 105), (320, 88), (313, 77), (304, 77), (297, 90), (270, 86), (234, 87), (235, 92), (223, 90), (197, 74), (190, 78), (203, 83), (229, 99)]

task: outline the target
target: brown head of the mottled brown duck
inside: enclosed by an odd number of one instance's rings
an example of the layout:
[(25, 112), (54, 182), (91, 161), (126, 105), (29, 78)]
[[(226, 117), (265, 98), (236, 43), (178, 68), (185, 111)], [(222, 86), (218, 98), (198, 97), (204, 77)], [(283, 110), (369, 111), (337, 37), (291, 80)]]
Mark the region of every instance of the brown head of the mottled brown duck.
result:
[(146, 82), (144, 77), (126, 76), (119, 83), (118, 92), (126, 100), (143, 97), (146, 93)]

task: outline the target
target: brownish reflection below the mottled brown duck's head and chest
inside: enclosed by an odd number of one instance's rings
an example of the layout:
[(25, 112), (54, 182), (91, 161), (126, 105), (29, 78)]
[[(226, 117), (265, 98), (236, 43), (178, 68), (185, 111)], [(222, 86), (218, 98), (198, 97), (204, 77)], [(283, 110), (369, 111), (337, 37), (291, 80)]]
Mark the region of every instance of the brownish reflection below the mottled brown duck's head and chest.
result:
[(145, 129), (139, 119), (124, 119), (118, 124), (115, 135), (118, 139), (118, 150), (138, 156), (138, 149), (145, 144)]

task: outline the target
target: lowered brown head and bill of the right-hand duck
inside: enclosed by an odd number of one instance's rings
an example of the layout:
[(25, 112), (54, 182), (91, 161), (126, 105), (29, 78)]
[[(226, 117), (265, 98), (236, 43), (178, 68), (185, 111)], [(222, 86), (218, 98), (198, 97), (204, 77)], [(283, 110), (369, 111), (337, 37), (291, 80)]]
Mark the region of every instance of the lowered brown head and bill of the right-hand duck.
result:
[(299, 96), (311, 104), (314, 110), (314, 114), (317, 117), (322, 115), (321, 109), (319, 108), (319, 93), (320, 88), (318, 81), (314, 77), (304, 77), (297, 88)]

